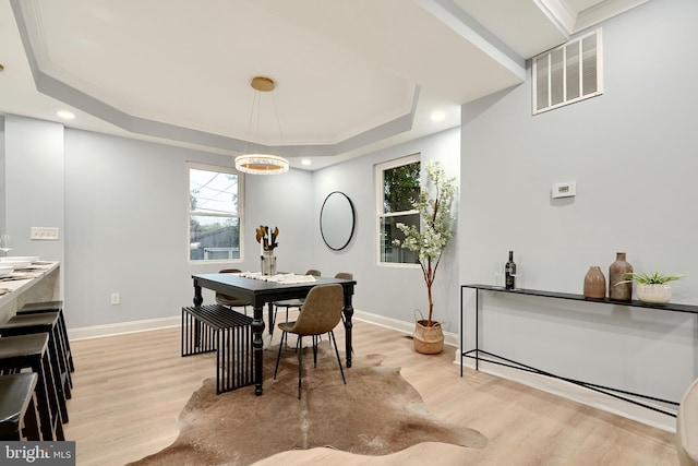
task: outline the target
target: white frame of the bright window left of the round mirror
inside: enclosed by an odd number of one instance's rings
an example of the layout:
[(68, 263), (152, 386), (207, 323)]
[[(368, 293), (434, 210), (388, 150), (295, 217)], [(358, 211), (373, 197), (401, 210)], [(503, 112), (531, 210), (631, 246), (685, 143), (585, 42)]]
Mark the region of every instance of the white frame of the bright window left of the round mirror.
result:
[[(234, 167), (225, 167), (219, 165), (212, 164), (203, 164), (198, 162), (188, 160), (185, 164), (186, 170), (186, 262), (189, 264), (231, 264), (231, 263), (241, 263), (244, 261), (244, 174), (237, 170)], [(191, 259), (191, 170), (206, 170), (214, 171), (218, 174), (228, 174), (236, 175), (238, 177), (238, 213), (234, 215), (205, 215), (212, 217), (222, 217), (222, 218), (238, 218), (238, 228), (239, 228), (239, 238), (240, 238), (240, 256), (238, 259)]]

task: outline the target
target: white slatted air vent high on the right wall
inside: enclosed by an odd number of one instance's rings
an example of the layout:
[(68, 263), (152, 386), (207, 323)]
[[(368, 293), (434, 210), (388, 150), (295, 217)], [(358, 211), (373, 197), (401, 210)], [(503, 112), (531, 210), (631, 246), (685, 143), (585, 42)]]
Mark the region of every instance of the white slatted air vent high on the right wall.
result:
[(603, 94), (601, 29), (533, 58), (533, 115)]

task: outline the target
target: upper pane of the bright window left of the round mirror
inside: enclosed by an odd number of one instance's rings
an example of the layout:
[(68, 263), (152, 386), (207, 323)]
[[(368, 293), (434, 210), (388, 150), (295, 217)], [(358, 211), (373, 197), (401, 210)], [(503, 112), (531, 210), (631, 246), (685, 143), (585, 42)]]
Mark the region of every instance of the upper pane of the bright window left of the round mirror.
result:
[(197, 214), (238, 214), (238, 176), (189, 170), (191, 211)]

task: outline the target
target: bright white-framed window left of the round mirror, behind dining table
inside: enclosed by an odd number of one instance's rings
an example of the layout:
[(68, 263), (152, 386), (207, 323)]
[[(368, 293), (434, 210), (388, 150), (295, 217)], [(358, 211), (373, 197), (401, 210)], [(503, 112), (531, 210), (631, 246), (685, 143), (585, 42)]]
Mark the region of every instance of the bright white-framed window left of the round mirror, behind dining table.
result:
[(242, 176), (233, 168), (188, 164), (189, 259), (240, 259)]

